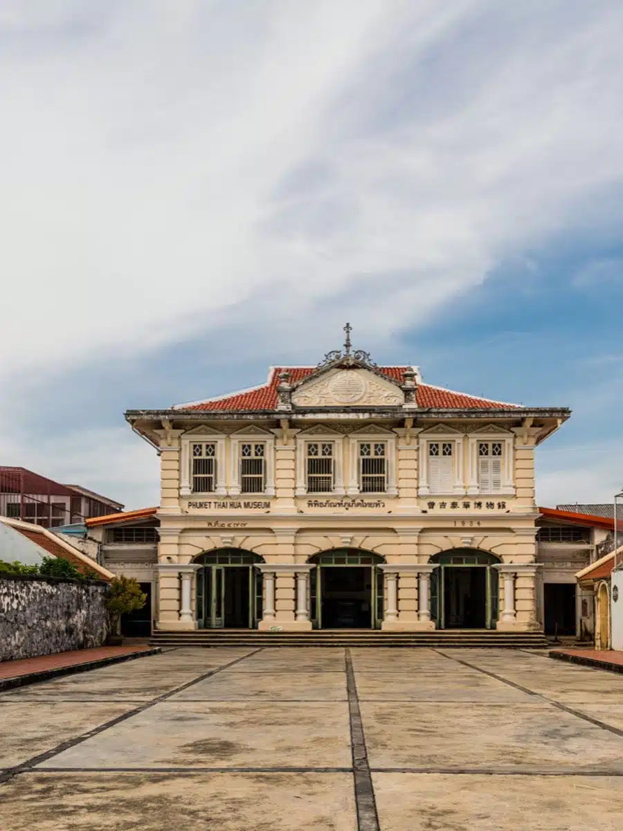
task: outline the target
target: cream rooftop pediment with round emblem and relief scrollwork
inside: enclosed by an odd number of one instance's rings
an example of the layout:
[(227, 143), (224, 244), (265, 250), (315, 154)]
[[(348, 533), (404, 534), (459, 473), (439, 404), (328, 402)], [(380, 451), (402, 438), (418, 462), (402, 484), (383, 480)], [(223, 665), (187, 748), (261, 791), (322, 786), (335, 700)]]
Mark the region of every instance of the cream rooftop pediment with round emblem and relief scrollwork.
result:
[(400, 406), (404, 401), (400, 386), (361, 367), (321, 371), (292, 392), (292, 404), (299, 407)]

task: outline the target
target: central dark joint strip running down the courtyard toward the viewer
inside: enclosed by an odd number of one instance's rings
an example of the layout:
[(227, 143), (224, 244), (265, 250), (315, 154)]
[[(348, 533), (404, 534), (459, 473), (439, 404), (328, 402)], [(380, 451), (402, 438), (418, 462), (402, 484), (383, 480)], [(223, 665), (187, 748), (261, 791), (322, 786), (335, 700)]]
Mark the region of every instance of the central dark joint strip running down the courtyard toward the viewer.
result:
[(348, 714), (351, 721), (352, 769), (355, 779), (355, 804), (357, 809), (358, 831), (380, 831), (379, 816), (376, 813), (376, 800), (368, 751), (365, 748), (365, 735), (355, 672), (352, 668), (351, 650), (346, 649), (346, 691), (348, 693)]

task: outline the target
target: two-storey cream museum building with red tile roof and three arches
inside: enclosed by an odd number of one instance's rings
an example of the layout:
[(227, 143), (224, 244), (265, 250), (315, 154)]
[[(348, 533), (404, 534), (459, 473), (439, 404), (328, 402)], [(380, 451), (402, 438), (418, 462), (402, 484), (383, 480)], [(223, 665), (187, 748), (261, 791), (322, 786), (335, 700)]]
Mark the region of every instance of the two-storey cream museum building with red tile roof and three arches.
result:
[(156, 626), (534, 632), (535, 448), (566, 420), (352, 350), (126, 420), (159, 451)]

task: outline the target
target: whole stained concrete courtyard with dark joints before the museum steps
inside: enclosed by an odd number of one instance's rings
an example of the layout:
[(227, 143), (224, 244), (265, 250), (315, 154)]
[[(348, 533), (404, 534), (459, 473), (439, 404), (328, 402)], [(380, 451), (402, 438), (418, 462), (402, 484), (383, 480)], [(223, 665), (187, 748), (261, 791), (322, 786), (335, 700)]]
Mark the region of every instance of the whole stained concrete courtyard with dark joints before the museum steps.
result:
[(536, 652), (173, 649), (0, 695), (3, 831), (619, 831), (623, 676)]

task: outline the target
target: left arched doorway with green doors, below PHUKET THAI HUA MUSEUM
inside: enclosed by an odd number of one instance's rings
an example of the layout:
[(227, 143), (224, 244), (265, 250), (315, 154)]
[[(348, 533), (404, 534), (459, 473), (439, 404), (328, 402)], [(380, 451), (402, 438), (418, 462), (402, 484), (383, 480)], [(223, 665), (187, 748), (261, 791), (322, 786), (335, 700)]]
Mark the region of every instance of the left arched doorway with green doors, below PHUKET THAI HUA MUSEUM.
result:
[(243, 548), (218, 548), (199, 554), (197, 626), (199, 629), (256, 629), (262, 617), (264, 560)]

